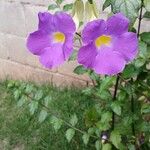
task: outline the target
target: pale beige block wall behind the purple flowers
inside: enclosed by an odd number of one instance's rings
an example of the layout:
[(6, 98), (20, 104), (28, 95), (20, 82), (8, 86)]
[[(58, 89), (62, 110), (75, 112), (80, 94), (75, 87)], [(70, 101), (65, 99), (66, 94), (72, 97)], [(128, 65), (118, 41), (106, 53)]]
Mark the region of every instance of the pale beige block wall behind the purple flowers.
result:
[[(103, 0), (97, 1), (102, 6)], [(0, 79), (11, 77), (53, 82), (57, 86), (81, 86), (90, 83), (87, 76), (72, 73), (77, 62), (65, 63), (57, 69), (47, 70), (26, 49), (28, 33), (37, 28), (37, 13), (47, 10), (50, 3), (52, 0), (0, 0)], [(107, 12), (101, 14), (102, 18), (106, 18), (106, 15)], [(146, 29), (148, 25), (145, 24)]]

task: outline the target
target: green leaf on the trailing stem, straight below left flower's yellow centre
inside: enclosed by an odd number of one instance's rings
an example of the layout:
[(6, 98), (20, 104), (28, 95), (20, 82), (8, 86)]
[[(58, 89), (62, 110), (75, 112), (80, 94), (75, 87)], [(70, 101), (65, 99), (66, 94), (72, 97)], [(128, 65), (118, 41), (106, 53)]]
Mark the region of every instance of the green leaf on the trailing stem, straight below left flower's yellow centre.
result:
[(53, 127), (57, 132), (61, 128), (63, 121), (61, 119), (56, 118), (55, 116), (52, 116), (51, 123), (53, 124)]

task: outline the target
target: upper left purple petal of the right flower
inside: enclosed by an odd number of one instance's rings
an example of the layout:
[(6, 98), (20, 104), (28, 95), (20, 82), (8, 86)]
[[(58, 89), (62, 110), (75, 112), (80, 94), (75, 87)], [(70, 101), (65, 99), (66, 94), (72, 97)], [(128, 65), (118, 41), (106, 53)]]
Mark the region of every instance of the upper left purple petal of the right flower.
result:
[(106, 23), (104, 20), (94, 20), (85, 26), (82, 32), (82, 41), (88, 44), (94, 41), (98, 36), (106, 33)]

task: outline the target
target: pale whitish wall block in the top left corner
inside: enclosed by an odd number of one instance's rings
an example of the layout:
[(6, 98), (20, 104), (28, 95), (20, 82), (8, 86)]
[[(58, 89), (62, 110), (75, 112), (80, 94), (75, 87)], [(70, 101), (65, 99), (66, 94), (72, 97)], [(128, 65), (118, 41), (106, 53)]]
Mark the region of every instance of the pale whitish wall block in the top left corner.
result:
[(19, 36), (26, 35), (25, 16), (19, 3), (0, 1), (0, 31)]

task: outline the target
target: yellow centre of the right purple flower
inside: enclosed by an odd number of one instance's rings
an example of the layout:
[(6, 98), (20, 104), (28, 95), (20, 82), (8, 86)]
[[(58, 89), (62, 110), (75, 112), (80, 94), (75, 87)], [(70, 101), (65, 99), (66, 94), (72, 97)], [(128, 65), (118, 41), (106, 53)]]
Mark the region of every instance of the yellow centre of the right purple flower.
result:
[(97, 48), (101, 47), (102, 45), (106, 45), (109, 46), (111, 42), (111, 37), (110, 36), (106, 36), (106, 35), (102, 35), (99, 36), (96, 40), (95, 40), (95, 45)]

